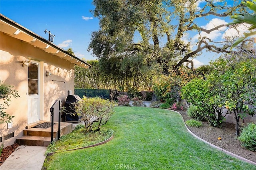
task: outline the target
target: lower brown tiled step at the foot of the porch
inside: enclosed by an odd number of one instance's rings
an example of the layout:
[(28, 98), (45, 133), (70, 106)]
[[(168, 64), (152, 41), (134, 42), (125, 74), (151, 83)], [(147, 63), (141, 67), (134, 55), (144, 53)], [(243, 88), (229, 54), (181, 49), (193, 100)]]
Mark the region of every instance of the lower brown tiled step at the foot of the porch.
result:
[[(56, 138), (53, 140), (55, 141)], [(27, 146), (48, 146), (51, 143), (51, 138), (44, 136), (21, 136), (16, 138), (16, 143)]]

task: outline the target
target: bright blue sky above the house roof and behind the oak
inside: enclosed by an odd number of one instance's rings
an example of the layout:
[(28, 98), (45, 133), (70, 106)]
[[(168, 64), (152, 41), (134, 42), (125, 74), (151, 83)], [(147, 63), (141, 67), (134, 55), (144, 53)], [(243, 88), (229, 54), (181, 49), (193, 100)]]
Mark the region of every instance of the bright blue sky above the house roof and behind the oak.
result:
[[(63, 49), (71, 47), (76, 57), (87, 60), (97, 59), (87, 51), (87, 48), (91, 33), (99, 30), (99, 20), (94, 18), (90, 10), (94, 10), (91, 0), (0, 0), (1, 14), (45, 39), (48, 39), (48, 34), (44, 33), (47, 29), (55, 35), (56, 45)], [(210, 28), (207, 24), (211, 21), (224, 22), (213, 19), (201, 21), (200, 24)], [(230, 17), (225, 20), (231, 21)], [(219, 32), (217, 37), (220, 38), (220, 34)], [(214, 53), (203, 53), (196, 60), (200, 65), (208, 64), (210, 60), (216, 58), (214, 55)]]

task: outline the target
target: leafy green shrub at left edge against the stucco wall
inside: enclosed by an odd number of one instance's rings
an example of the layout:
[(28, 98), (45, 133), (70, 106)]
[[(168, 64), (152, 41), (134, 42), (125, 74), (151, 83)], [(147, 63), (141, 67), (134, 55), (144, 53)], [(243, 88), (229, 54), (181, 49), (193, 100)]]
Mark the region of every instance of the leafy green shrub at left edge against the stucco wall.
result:
[[(11, 97), (20, 97), (18, 95), (18, 91), (12, 88), (12, 85), (4, 85), (3, 82), (0, 80), (0, 99), (4, 100), (4, 104), (6, 106), (9, 106)], [(12, 121), (12, 118), (14, 118), (14, 116), (10, 116), (4, 111), (4, 109), (6, 109), (4, 107), (4, 104), (0, 104), (0, 124), (9, 123)]]

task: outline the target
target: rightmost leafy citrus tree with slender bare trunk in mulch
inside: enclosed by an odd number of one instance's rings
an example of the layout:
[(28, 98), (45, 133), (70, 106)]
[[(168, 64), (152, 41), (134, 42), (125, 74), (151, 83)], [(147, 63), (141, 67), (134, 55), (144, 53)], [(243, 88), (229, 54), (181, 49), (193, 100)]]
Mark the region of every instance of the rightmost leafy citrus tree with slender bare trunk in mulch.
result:
[(226, 109), (234, 113), (236, 135), (239, 136), (240, 118), (256, 112), (256, 59), (241, 61), (221, 75), (222, 94)]

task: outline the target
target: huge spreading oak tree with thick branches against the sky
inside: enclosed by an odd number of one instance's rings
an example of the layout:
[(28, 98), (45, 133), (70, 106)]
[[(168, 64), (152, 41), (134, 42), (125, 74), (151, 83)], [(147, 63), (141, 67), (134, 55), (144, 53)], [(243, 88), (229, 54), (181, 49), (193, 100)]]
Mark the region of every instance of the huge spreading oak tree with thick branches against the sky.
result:
[[(143, 64), (158, 63), (164, 73), (169, 69), (178, 70), (185, 62), (191, 63), (191, 58), (204, 49), (228, 52), (228, 45), (203, 36), (226, 24), (207, 30), (198, 22), (209, 16), (231, 16), (243, 8), (240, 1), (234, 0), (230, 6), (222, 0), (205, 0), (204, 6), (198, 8), (199, 2), (201, 0), (94, 0), (92, 12), (100, 20), (100, 30), (92, 33), (88, 50), (100, 63), (110, 63), (111, 58), (122, 61), (130, 55), (143, 55)], [(191, 32), (199, 34), (195, 44), (184, 41), (184, 35)]]

